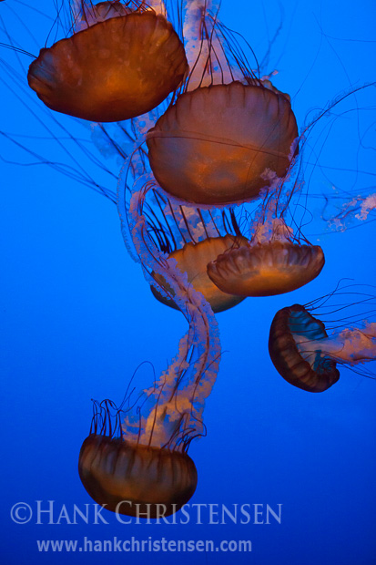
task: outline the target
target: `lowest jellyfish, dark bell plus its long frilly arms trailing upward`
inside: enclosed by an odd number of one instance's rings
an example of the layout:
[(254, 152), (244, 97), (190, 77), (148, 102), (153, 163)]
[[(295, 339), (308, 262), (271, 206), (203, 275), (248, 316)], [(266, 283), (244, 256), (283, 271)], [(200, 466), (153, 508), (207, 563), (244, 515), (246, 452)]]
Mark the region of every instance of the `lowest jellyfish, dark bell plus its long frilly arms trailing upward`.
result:
[[(187, 455), (191, 441), (205, 433), (202, 413), (218, 373), (218, 324), (201, 293), (187, 283), (174, 262), (158, 250), (147, 228), (147, 191), (135, 191), (127, 210), (127, 187), (119, 182), (122, 231), (131, 237), (144, 272), (158, 273), (174, 293), (189, 329), (167, 371), (143, 391), (139, 406), (116, 413), (115, 431), (108, 403), (79, 456), (79, 474), (99, 504), (127, 516), (158, 518), (181, 508), (193, 495), (196, 467)], [(124, 416), (120, 429), (120, 415)], [(114, 437), (119, 436), (119, 437)]]

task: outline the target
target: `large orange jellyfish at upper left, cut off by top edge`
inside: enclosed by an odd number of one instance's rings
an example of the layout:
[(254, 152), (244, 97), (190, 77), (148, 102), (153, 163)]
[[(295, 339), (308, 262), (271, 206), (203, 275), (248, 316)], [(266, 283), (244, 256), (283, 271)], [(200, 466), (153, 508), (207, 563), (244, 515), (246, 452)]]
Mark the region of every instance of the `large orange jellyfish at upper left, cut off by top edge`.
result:
[(29, 86), (48, 108), (96, 122), (119, 121), (156, 108), (176, 90), (188, 64), (164, 15), (144, 3), (139, 9), (119, 0), (75, 4), (78, 31), (41, 49), (29, 67)]

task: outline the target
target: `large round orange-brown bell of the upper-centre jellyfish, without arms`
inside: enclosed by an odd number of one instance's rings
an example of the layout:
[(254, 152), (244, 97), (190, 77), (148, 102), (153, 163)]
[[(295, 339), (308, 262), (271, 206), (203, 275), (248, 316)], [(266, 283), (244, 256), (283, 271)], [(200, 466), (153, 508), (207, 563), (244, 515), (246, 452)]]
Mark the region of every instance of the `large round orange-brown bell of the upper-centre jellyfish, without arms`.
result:
[(259, 198), (286, 175), (298, 127), (289, 100), (262, 83), (182, 94), (147, 134), (150, 167), (178, 199), (225, 205)]

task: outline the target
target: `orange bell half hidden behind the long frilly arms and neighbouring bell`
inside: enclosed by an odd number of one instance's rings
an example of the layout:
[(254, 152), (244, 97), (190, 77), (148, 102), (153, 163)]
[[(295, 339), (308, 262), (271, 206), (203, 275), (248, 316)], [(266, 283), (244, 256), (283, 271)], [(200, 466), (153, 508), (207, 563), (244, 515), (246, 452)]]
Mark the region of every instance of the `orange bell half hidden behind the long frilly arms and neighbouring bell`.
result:
[[(244, 239), (244, 238), (243, 238)], [(214, 313), (229, 310), (244, 300), (244, 296), (223, 293), (218, 286), (214, 284), (208, 277), (208, 263), (220, 253), (226, 252), (229, 248), (239, 245), (237, 239), (232, 235), (224, 237), (208, 238), (203, 241), (194, 243), (189, 241), (183, 248), (175, 252), (171, 252), (168, 258), (175, 259), (179, 271), (186, 272), (188, 275), (188, 283), (199, 292), (202, 293), (205, 300), (208, 301)], [(155, 281), (162, 288), (167, 289), (168, 285), (164, 281), (163, 276), (155, 275)], [(161, 303), (165, 303), (171, 308), (178, 309), (174, 303), (173, 292), (169, 291), (169, 296), (158, 292), (158, 289), (151, 286), (151, 291)]]

